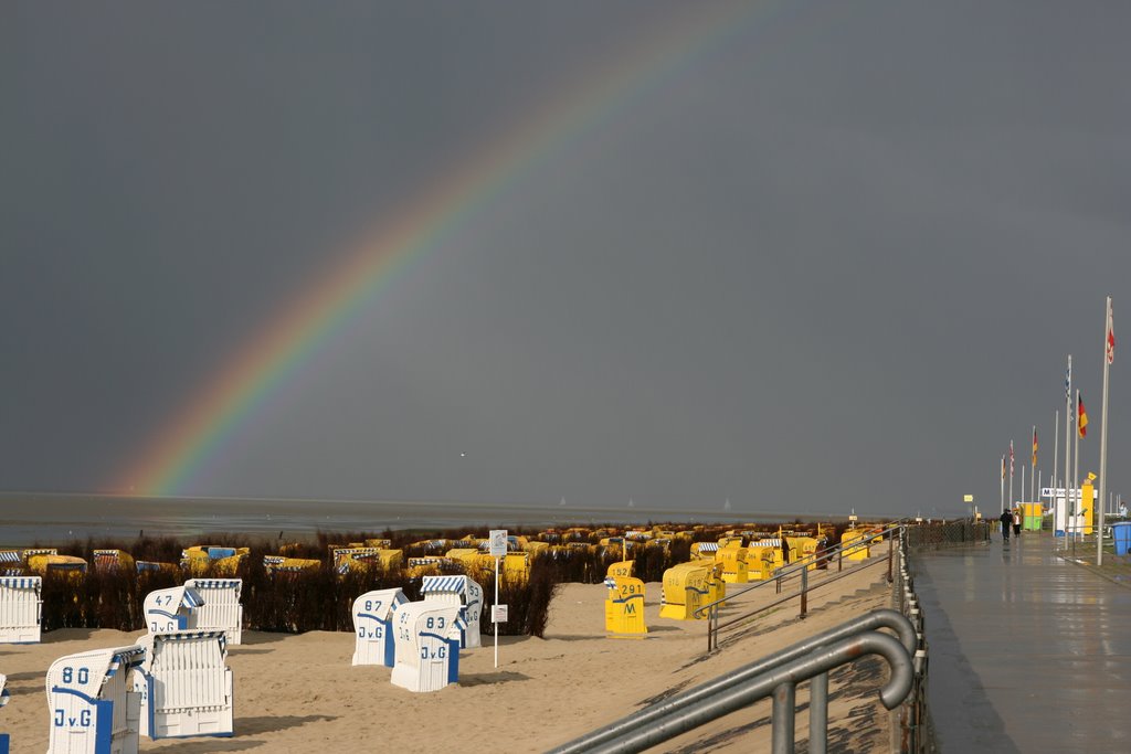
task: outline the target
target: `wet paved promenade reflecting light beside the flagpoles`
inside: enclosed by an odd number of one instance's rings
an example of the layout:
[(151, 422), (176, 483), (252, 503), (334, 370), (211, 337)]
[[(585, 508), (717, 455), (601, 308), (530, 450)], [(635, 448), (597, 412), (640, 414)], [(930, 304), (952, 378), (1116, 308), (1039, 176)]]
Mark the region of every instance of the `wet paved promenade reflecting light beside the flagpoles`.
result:
[(913, 557), (944, 754), (1131, 752), (1131, 589), (1056, 547), (995, 534)]

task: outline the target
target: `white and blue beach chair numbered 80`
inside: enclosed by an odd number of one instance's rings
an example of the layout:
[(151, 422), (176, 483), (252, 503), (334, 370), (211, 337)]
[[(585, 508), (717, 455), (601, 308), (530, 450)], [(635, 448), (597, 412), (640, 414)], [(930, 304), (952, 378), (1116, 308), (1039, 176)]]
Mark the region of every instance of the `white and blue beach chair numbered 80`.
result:
[(141, 699), (130, 671), (139, 644), (61, 657), (48, 668), (48, 754), (137, 754)]

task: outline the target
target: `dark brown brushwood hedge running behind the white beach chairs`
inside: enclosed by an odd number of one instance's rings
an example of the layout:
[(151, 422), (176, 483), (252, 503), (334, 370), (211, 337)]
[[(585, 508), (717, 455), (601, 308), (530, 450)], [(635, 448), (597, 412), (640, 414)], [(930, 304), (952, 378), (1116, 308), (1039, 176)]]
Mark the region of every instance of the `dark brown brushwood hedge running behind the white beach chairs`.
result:
[[(614, 529), (614, 527), (608, 527)], [(664, 571), (690, 560), (692, 541), (716, 539), (722, 527), (698, 527), (693, 537), (675, 537), (666, 546), (656, 543), (630, 543), (629, 557), (634, 561), (633, 575), (646, 582), (663, 580)], [(280, 537), (282, 537), (280, 532)], [(389, 539), (391, 546), (404, 552), (405, 558), (441, 555), (450, 548), (459, 535), (451, 531), (390, 531), (380, 538)], [(473, 530), (476, 537), (486, 537), (487, 530)], [(512, 531), (529, 535), (533, 531)], [(839, 531), (837, 531), (839, 535)], [(338, 573), (329, 562), (329, 549), (334, 545), (364, 541), (374, 535), (368, 532), (319, 532), (305, 541), (252, 540), (247, 536), (209, 536), (208, 544), (221, 547), (248, 547), (250, 555), (243, 560), (234, 574), (243, 580), (242, 603), (244, 627), (253, 631), (302, 633), (305, 631), (353, 631), (351, 608), (353, 600), (372, 589), (400, 588), (408, 599), (421, 598), (420, 575), (403, 567), (382, 569), (378, 564), (364, 569)], [(543, 549), (530, 557), (528, 579), (502, 579), (499, 584), (499, 601), (508, 606), (508, 622), (500, 624), (503, 635), (542, 636), (546, 629), (550, 604), (562, 583), (601, 583), (608, 566), (622, 560), (619, 545), (603, 546), (601, 531), (577, 535), (558, 546)], [(122, 549), (137, 561), (178, 563), (183, 544), (169, 537), (139, 537), (132, 541), (88, 539), (59, 547), (62, 555), (75, 555), (93, 563), (95, 549)], [(295, 573), (269, 573), (264, 566), (264, 556), (285, 549), (291, 557), (312, 558), (322, 562), (314, 571)], [(494, 625), (490, 621), (494, 604), (493, 570), (473, 569), (468, 572), (459, 565), (443, 565), (446, 573), (468, 573), (482, 587), (484, 613), (480, 625), (484, 633), (491, 633)], [(231, 577), (231, 573), (204, 573), (204, 577)], [(184, 582), (188, 574), (180, 571), (144, 571), (132, 569), (98, 571), (93, 567), (86, 573), (49, 572), (43, 579), (43, 629), (118, 629), (138, 631), (145, 627), (143, 600), (155, 589), (175, 587)]]

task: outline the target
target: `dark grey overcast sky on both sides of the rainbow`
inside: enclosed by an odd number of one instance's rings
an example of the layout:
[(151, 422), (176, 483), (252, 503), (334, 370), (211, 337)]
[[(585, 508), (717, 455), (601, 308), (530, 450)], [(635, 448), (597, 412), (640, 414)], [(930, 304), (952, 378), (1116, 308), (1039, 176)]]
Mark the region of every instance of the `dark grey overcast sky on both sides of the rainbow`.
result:
[[(363, 228), (714, 7), (5, 2), (0, 488), (115, 488)], [(405, 266), (178, 492), (995, 508), (1033, 424), (1047, 477), (1069, 353), (1098, 470), (1131, 6), (751, 8)], [(1124, 347), (1115, 492), (1128, 374)]]

